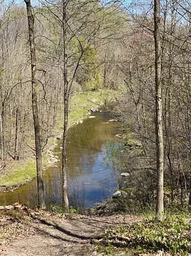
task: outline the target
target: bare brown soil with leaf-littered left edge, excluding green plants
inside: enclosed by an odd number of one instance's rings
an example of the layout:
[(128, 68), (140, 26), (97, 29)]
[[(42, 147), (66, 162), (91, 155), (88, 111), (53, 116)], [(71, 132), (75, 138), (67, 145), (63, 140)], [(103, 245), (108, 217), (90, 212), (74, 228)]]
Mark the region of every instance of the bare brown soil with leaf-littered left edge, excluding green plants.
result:
[[(93, 238), (101, 238), (106, 229), (141, 221), (129, 215), (56, 216), (33, 210), (0, 211), (0, 255), (107, 255), (97, 250)], [(109, 254), (111, 255), (111, 254)], [(122, 251), (112, 255), (124, 255)]]

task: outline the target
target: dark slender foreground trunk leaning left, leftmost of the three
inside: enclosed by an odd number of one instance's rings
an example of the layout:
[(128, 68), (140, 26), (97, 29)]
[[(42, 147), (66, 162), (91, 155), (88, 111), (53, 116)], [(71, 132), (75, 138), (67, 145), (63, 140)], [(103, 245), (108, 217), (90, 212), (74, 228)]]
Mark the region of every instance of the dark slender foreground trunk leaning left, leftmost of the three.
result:
[(37, 194), (38, 194), (38, 207), (46, 208), (44, 201), (44, 180), (42, 170), (41, 158), (41, 130), (39, 125), (39, 112), (37, 108), (37, 91), (36, 91), (36, 55), (35, 55), (35, 38), (34, 38), (34, 17), (32, 14), (31, 0), (24, 0), (27, 5), (27, 18), (29, 25), (29, 42), (31, 51), (31, 83), (32, 83), (32, 108), (33, 108), (33, 121), (35, 128), (35, 150), (36, 150), (36, 163), (37, 163)]

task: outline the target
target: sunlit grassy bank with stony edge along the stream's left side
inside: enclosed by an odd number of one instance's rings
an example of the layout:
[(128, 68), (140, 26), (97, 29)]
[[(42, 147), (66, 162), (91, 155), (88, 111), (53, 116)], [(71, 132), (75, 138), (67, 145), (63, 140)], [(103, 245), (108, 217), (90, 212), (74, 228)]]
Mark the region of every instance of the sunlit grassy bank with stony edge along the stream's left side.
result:
[[(91, 91), (84, 94), (78, 94), (75, 98), (71, 98), (69, 110), (69, 127), (83, 122), (91, 111), (97, 109), (105, 102), (114, 99), (114, 91), (100, 90)], [(48, 144), (43, 152), (43, 167), (44, 171), (52, 166), (58, 159), (52, 154), (52, 150), (58, 143), (58, 139), (63, 137), (63, 111), (60, 110), (57, 117), (56, 127), (52, 131)], [(12, 192), (19, 186), (23, 186), (35, 179), (36, 167), (35, 156), (33, 152), (28, 155), (27, 159), (13, 161), (7, 163), (7, 166), (0, 173), (0, 191)]]

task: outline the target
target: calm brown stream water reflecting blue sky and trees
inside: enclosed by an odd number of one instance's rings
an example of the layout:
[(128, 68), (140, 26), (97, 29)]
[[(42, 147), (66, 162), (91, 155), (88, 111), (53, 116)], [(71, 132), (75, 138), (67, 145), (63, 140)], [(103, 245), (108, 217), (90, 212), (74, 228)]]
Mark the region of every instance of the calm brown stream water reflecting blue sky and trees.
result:
[[(92, 115), (69, 130), (67, 143), (68, 194), (72, 205), (92, 208), (95, 203), (111, 196), (116, 190), (116, 177), (104, 165), (105, 145), (120, 144), (115, 135), (119, 133), (117, 122), (109, 122), (109, 113), (105, 109), (92, 112)], [(61, 140), (52, 152), (58, 162), (48, 167), (44, 173), (46, 204), (62, 202), (61, 185)], [(9, 205), (16, 201), (30, 207), (37, 205), (37, 181), (14, 190), (12, 193), (0, 193), (0, 205)]]

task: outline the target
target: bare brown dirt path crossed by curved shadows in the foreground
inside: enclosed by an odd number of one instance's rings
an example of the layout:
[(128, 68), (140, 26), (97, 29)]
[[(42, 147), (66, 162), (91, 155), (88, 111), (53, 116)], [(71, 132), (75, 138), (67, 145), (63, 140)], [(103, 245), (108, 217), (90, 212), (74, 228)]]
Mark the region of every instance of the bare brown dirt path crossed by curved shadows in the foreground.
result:
[(0, 255), (101, 255), (91, 243), (92, 238), (104, 233), (105, 229), (132, 221), (139, 221), (139, 218), (119, 215), (109, 217), (78, 215), (59, 218), (50, 214), (43, 217), (32, 214), (27, 228), (23, 223), (18, 227), (22, 232), (14, 226), (16, 237), (1, 245)]

